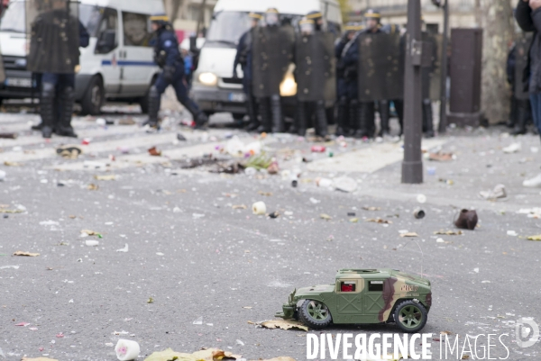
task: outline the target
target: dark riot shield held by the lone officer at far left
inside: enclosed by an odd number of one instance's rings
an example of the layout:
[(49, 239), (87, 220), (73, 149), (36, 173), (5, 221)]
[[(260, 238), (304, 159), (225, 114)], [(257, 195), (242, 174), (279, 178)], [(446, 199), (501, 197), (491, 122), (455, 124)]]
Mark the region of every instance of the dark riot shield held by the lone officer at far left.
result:
[(26, 0), (30, 47), (27, 68), (35, 73), (74, 73), (79, 64), (78, 2)]

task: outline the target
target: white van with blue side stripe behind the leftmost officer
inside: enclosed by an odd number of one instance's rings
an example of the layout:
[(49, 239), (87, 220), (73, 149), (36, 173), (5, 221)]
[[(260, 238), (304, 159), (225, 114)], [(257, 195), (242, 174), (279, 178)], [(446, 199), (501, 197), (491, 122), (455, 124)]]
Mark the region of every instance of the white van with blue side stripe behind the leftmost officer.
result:
[[(26, 70), (25, 2), (12, 0), (0, 21), (0, 51), (5, 83), (0, 100), (37, 96), (37, 82)], [(90, 34), (81, 48), (76, 101), (85, 114), (97, 114), (105, 100), (141, 104), (160, 69), (153, 61), (151, 14), (163, 12), (162, 0), (80, 0), (79, 19)]]

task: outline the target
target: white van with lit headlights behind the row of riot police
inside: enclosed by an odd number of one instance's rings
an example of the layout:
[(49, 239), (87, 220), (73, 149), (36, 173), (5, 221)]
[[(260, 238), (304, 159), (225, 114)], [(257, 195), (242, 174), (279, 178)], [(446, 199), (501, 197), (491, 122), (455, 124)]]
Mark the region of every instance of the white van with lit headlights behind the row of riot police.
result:
[[(235, 119), (243, 118), (246, 113), (243, 80), (233, 77), (236, 46), (250, 28), (248, 14), (262, 14), (271, 7), (278, 9), (282, 20), (289, 19), (293, 24), (318, 10), (338, 32), (342, 27), (342, 13), (336, 0), (218, 0), (192, 85), (192, 95), (205, 113), (228, 112)], [(240, 67), (238, 73), (241, 77)]]

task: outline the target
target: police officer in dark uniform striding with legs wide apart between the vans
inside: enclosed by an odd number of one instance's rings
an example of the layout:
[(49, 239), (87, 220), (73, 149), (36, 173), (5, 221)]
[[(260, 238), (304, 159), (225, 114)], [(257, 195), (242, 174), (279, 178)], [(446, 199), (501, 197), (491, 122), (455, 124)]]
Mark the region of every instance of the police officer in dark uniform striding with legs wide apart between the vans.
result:
[(149, 119), (143, 125), (159, 128), (161, 95), (168, 86), (173, 86), (180, 104), (192, 114), (196, 129), (205, 128), (208, 118), (197, 104), (188, 97), (188, 89), (184, 85), (184, 61), (180, 56), (179, 41), (169, 18), (165, 14), (151, 16), (152, 31), (155, 33), (154, 61), (161, 68), (161, 74), (151, 86), (149, 99)]

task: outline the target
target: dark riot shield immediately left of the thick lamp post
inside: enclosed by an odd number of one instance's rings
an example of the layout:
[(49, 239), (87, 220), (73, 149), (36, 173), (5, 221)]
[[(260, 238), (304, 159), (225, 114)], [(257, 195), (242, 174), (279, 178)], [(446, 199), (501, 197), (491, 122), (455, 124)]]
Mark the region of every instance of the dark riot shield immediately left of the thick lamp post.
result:
[(401, 99), (404, 93), (404, 56), (400, 35), (359, 34), (359, 101)]

